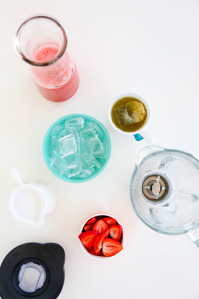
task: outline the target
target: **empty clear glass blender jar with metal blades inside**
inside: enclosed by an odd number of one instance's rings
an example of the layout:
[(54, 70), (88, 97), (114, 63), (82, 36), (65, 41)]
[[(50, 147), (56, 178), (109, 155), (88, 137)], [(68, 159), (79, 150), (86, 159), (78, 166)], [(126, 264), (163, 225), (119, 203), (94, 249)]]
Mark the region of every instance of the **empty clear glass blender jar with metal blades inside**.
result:
[(199, 160), (146, 146), (136, 159), (130, 195), (138, 217), (159, 233), (185, 233), (199, 247)]

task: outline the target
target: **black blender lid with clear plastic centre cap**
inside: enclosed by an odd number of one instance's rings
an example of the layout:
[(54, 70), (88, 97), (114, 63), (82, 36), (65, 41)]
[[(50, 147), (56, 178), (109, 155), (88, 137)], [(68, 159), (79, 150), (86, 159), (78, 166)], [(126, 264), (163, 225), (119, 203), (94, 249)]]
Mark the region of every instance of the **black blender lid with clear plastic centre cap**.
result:
[(64, 285), (64, 261), (64, 249), (57, 243), (15, 247), (0, 267), (0, 297), (56, 299)]

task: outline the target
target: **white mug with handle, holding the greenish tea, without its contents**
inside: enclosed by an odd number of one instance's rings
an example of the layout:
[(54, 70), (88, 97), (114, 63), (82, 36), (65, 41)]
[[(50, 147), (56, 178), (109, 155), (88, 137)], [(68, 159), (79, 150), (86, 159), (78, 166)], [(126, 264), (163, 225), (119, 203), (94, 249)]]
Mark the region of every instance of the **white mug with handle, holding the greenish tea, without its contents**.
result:
[[(143, 124), (143, 126), (137, 130), (137, 131), (134, 131), (134, 132), (124, 132), (122, 131), (121, 129), (117, 128), (115, 126), (115, 124), (113, 123), (112, 121), (112, 118), (111, 118), (111, 110), (112, 110), (112, 107), (113, 105), (115, 104), (115, 102), (117, 102), (119, 99), (121, 98), (124, 98), (124, 97), (133, 97), (133, 98), (136, 98), (138, 99), (139, 101), (141, 101), (144, 106), (146, 107), (146, 111), (147, 111), (147, 117), (146, 117), (146, 122)], [(135, 134), (141, 134), (141, 136), (148, 142), (148, 143), (153, 143), (156, 138), (154, 137), (154, 135), (147, 129), (147, 126), (149, 125), (149, 122), (150, 122), (150, 118), (151, 118), (151, 110), (150, 110), (150, 106), (149, 106), (149, 103), (145, 100), (145, 98), (143, 98), (141, 95), (139, 94), (132, 94), (132, 93), (126, 93), (126, 94), (119, 94), (117, 97), (115, 97), (109, 107), (108, 107), (108, 119), (109, 119), (109, 122), (111, 124), (111, 126), (116, 130), (118, 131), (119, 133), (122, 133), (122, 134), (126, 134), (126, 135), (135, 135)]]

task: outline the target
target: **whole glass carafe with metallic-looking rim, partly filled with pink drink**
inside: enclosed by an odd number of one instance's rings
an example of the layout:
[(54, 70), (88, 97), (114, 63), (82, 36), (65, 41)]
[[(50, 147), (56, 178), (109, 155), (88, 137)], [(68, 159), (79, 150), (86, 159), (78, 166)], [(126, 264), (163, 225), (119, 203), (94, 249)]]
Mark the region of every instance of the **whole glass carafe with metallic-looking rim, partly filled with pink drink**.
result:
[(49, 101), (66, 101), (79, 87), (76, 65), (66, 46), (63, 27), (48, 15), (30, 16), (14, 34), (16, 52), (29, 63), (37, 89)]

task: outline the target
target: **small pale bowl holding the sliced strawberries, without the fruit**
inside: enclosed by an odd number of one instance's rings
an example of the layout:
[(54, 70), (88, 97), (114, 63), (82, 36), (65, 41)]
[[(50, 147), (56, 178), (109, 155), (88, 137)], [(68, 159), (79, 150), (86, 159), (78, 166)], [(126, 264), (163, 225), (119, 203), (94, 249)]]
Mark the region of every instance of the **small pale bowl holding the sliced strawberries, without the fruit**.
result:
[[(91, 218), (93, 218), (93, 217), (96, 217), (96, 216), (105, 216), (105, 217), (112, 217), (112, 218), (114, 218), (116, 221), (117, 221), (117, 223), (119, 224), (119, 225), (122, 225), (120, 222), (119, 222), (119, 220), (115, 217), (115, 216), (113, 216), (113, 215), (111, 215), (111, 214), (109, 214), (109, 213), (103, 213), (103, 212), (101, 212), (101, 213), (95, 213), (95, 214), (92, 214), (92, 215), (90, 215), (90, 216), (88, 216), (85, 220), (84, 220), (84, 222), (82, 223), (82, 226), (81, 226), (81, 228), (80, 228), (80, 233), (82, 233), (82, 230), (83, 230), (83, 228), (84, 228), (84, 226), (85, 226), (85, 224), (88, 222), (88, 220), (90, 220)], [(123, 227), (122, 227), (123, 228)], [(122, 236), (121, 236), (121, 240), (120, 240), (120, 243), (121, 243), (121, 245), (123, 246), (123, 244), (124, 244), (124, 230), (122, 230)], [(105, 256), (97, 256), (97, 255), (94, 255), (94, 254), (91, 254), (91, 253), (89, 253), (88, 251), (87, 251), (87, 249), (86, 249), (86, 247), (84, 246), (84, 244), (80, 241), (80, 246), (81, 246), (81, 248), (83, 249), (83, 251), (89, 256), (89, 257), (92, 257), (92, 258), (95, 258), (96, 260), (103, 260), (103, 259), (107, 259), (107, 258), (111, 258), (111, 257), (105, 257)], [(115, 254), (115, 255), (117, 255), (117, 254)], [(112, 257), (114, 257), (115, 255), (113, 255)]]

